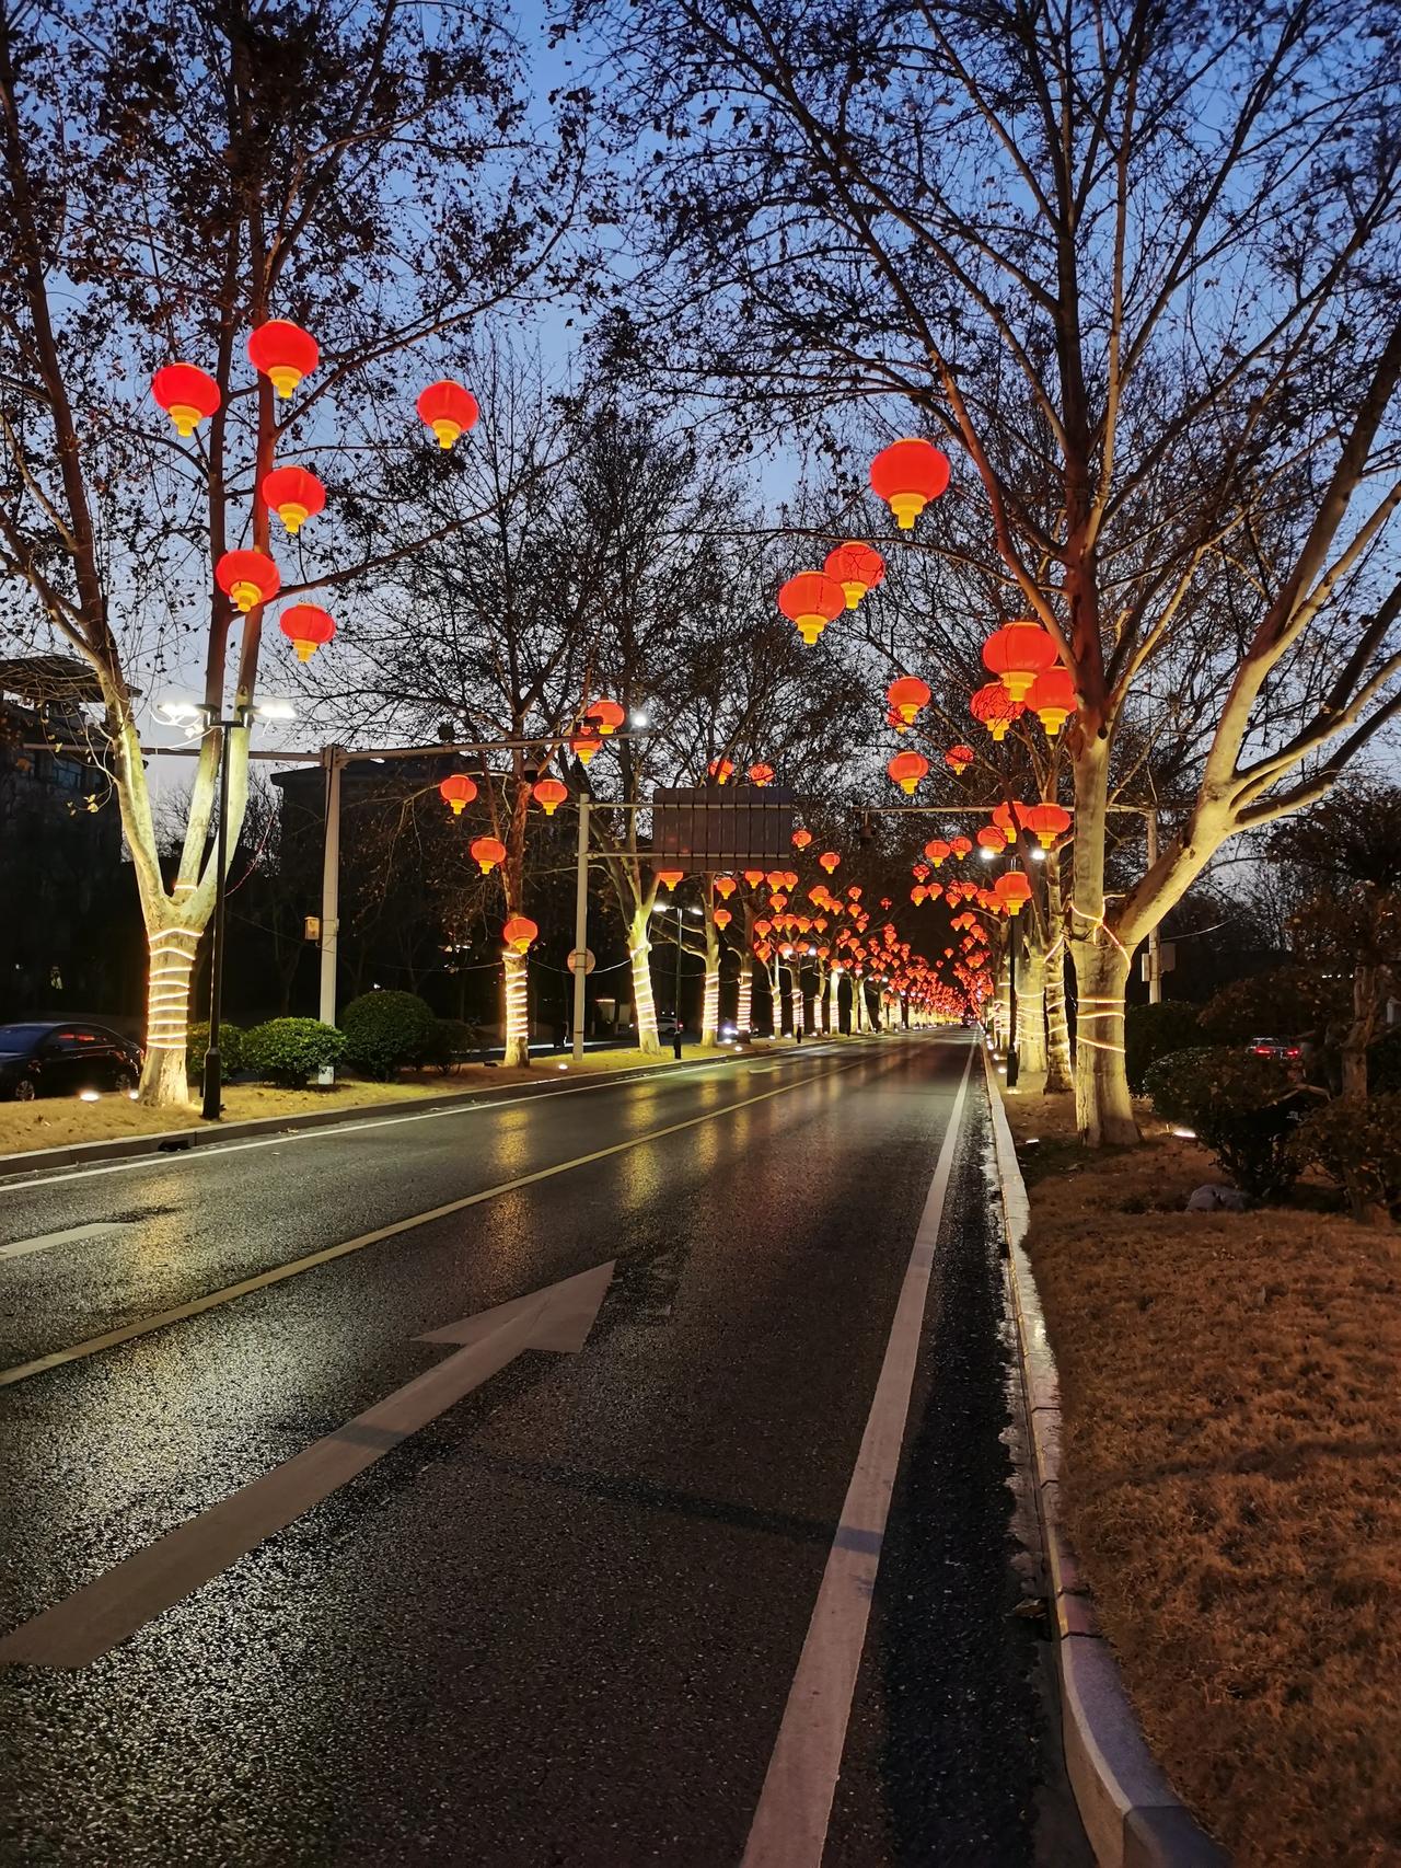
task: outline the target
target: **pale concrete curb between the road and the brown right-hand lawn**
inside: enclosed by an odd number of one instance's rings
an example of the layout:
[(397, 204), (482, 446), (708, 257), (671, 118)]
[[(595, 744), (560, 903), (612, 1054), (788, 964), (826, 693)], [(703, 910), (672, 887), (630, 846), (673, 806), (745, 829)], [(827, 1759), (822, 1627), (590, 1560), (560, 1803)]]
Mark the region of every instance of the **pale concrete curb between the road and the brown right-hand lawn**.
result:
[(1119, 1664), (1098, 1633), (1095, 1601), (1070, 1547), (1061, 1513), (1061, 1386), (1046, 1339), (1040, 1295), (1024, 1250), (1031, 1205), (986, 1046), (983, 1065), (1007, 1220), (1009, 1285), (1031, 1429), (1037, 1511), (1055, 1618), (1065, 1763), (1080, 1821), (1100, 1868), (1227, 1868), (1229, 1857), (1197, 1825), (1149, 1752), (1119, 1677)]

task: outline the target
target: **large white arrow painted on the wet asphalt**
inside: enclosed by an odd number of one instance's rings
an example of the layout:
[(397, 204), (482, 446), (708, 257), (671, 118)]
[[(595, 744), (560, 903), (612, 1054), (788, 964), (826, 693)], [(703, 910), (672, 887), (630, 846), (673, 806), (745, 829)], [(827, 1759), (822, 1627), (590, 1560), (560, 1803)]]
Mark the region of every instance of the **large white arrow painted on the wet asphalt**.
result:
[(420, 1336), (420, 1343), (461, 1347), (336, 1433), (24, 1621), (0, 1640), (0, 1664), (86, 1666), (108, 1653), (265, 1537), (286, 1530), (523, 1351), (577, 1354), (611, 1281), (613, 1261)]

